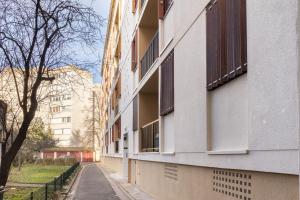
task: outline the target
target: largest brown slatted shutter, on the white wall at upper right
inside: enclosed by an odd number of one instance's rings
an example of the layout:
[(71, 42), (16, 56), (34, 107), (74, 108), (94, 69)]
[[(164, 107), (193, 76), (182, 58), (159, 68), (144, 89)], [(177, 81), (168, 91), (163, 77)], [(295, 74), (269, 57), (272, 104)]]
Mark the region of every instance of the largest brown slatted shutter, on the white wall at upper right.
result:
[(246, 0), (216, 0), (207, 8), (207, 90), (247, 72)]

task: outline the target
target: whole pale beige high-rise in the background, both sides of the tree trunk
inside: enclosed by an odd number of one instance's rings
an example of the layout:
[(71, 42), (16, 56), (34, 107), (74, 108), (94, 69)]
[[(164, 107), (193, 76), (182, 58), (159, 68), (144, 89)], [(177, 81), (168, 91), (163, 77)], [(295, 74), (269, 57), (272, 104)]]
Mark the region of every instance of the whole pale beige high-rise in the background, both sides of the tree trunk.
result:
[[(75, 66), (56, 68), (51, 73), (55, 80), (41, 85), (35, 117), (41, 118), (45, 128), (51, 129), (58, 147), (93, 147), (89, 126), (95, 87), (92, 74)], [(1, 76), (1, 99), (15, 110), (19, 108), (9, 70)]]

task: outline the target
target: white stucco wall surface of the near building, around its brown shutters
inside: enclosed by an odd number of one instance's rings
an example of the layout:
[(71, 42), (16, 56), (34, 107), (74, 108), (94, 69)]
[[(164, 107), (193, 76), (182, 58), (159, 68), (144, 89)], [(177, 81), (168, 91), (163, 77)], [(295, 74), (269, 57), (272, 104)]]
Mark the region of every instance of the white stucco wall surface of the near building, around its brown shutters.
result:
[[(128, 128), (129, 156), (297, 174), (298, 1), (247, 0), (248, 72), (209, 94), (206, 90), (205, 14), (208, 2), (174, 0), (169, 12), (173, 20), (168, 19), (170, 24), (163, 25), (168, 27), (174, 22), (173, 40), (153, 68), (159, 67), (170, 50), (175, 49), (175, 111), (161, 119), (165, 123), (162, 151), (174, 151), (166, 155), (136, 152), (138, 136), (132, 132), (132, 99), (145, 81), (137, 84), (134, 81), (137, 77), (130, 71), (130, 45), (139, 16), (131, 13), (128, 6), (131, 1), (124, 1), (120, 69), (122, 85), (125, 85), (122, 87), (122, 127)], [(229, 106), (233, 109), (228, 109)], [(222, 154), (211, 155), (208, 150)], [(248, 150), (248, 153), (238, 150)]]

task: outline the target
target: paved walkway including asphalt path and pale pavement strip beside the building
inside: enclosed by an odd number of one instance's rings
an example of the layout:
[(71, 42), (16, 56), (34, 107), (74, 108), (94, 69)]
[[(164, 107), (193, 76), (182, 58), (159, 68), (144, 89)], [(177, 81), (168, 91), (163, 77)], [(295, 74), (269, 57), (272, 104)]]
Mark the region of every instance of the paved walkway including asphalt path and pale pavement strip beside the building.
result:
[(154, 200), (99, 163), (83, 165), (67, 200)]

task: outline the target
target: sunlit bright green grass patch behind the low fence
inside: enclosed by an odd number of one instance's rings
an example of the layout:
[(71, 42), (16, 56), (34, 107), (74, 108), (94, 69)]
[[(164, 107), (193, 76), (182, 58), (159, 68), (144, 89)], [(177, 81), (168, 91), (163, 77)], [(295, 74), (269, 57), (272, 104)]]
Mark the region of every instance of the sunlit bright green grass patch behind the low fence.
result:
[(8, 180), (14, 183), (47, 183), (69, 167), (58, 165), (24, 165), (21, 171), (18, 171), (18, 168), (12, 168)]

